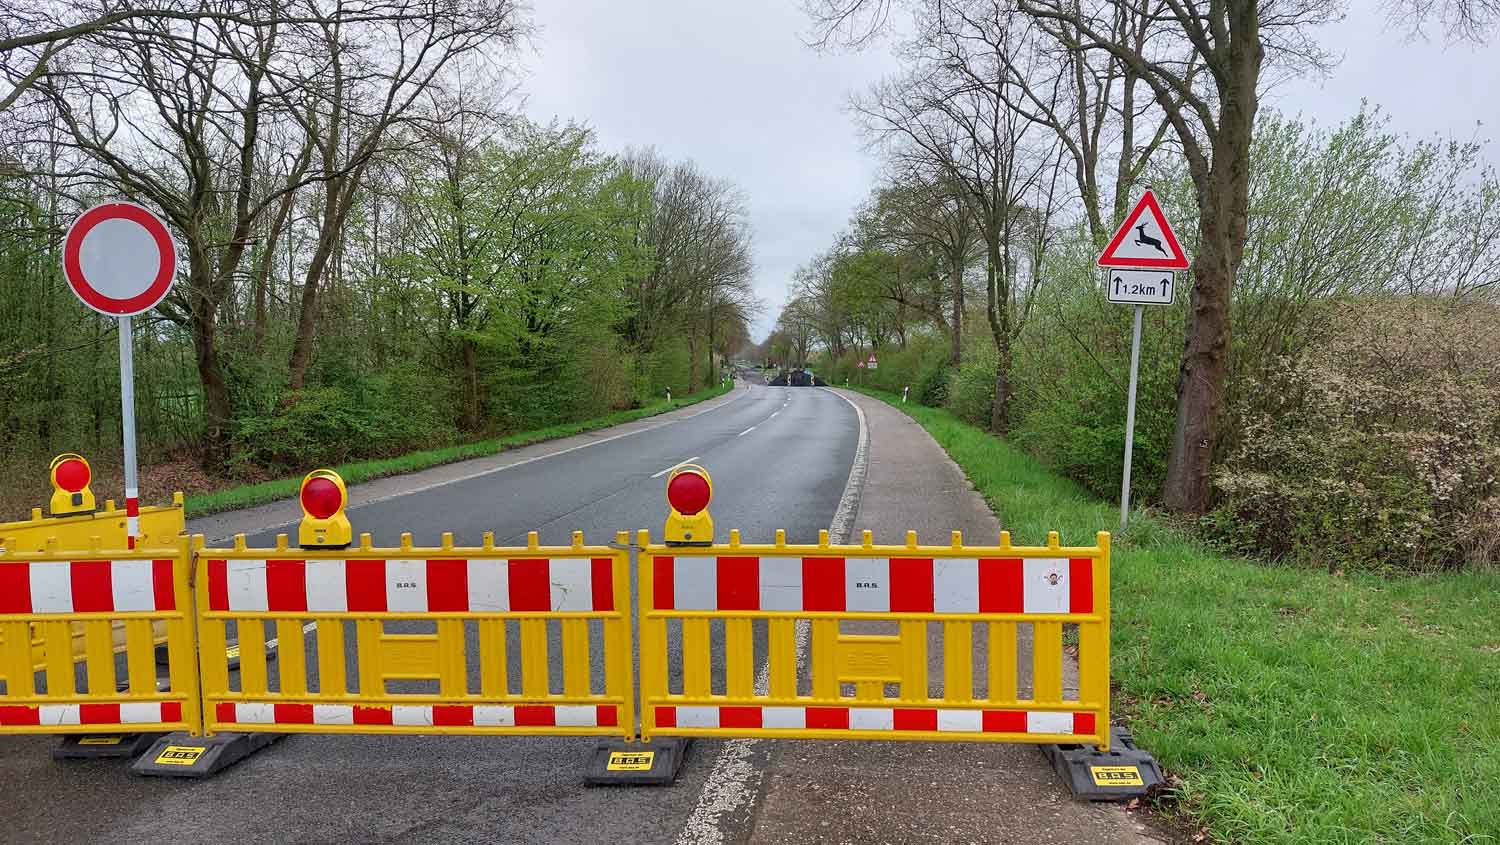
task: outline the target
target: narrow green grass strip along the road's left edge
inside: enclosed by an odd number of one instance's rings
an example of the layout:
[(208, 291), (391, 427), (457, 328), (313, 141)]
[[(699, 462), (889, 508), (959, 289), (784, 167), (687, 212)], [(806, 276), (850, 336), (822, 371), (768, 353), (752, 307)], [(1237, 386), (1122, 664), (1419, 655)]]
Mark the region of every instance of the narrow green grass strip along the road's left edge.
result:
[[(562, 437), (572, 437), (574, 434), (582, 434), (585, 431), (594, 431), (600, 428), (609, 428), (612, 425), (627, 423), (639, 420), (644, 417), (652, 417), (675, 408), (682, 408), (702, 402), (704, 399), (712, 399), (714, 396), (723, 396), (730, 390), (729, 386), (716, 386), (699, 390), (687, 396), (674, 399), (672, 402), (652, 402), (640, 408), (632, 408), (628, 411), (615, 411), (603, 417), (594, 417), (590, 420), (580, 420), (574, 423), (555, 425), (549, 428), (538, 428), (536, 431), (524, 431), (519, 434), (510, 434), (506, 437), (496, 437), (494, 440), (482, 440), (477, 443), (464, 443), (459, 446), (446, 446), (442, 449), (428, 449), (423, 452), (410, 452), (396, 458), (376, 458), (370, 461), (356, 461), (351, 464), (339, 464), (334, 467), (340, 476), (344, 476), (345, 483), (357, 485), (372, 479), (382, 479), (387, 476), (399, 476), (404, 473), (416, 473), (418, 470), (426, 470), (429, 467), (436, 467), (440, 464), (453, 464), (456, 461), (468, 461), (470, 458), (486, 458), (489, 455), (496, 455), (508, 449), (520, 449), (522, 446), (531, 446), (534, 443), (542, 443), (546, 440), (558, 440)], [(272, 482), (261, 482), (255, 485), (244, 485), (230, 489), (220, 489), (201, 495), (189, 495), (184, 500), (188, 518), (204, 516), (208, 513), (219, 513), (224, 510), (237, 510), (240, 507), (254, 507), (256, 504), (266, 504), (268, 501), (279, 501), (284, 498), (292, 498), (297, 495), (297, 488), (302, 485), (302, 476), (291, 479), (276, 479)]]

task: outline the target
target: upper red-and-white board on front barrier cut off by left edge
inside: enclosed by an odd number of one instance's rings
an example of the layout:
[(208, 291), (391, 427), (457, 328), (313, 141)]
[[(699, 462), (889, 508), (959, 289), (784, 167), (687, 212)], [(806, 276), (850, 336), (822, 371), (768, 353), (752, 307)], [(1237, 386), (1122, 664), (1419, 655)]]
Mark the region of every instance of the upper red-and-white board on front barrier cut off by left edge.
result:
[(176, 609), (171, 560), (0, 563), (0, 614)]

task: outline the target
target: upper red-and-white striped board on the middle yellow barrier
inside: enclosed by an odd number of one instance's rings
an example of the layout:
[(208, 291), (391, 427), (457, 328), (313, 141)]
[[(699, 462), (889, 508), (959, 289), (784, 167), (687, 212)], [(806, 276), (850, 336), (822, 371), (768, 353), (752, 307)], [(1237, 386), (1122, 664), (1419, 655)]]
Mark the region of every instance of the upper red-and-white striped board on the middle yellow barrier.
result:
[(210, 560), (208, 609), (260, 612), (597, 612), (614, 561)]

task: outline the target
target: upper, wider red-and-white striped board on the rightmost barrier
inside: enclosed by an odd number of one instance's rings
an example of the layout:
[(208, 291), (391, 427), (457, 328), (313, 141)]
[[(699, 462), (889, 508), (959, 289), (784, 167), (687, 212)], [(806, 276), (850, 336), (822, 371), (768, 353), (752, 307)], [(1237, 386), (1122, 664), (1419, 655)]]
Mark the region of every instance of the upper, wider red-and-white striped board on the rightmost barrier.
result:
[(1092, 614), (1092, 558), (657, 557), (663, 611)]

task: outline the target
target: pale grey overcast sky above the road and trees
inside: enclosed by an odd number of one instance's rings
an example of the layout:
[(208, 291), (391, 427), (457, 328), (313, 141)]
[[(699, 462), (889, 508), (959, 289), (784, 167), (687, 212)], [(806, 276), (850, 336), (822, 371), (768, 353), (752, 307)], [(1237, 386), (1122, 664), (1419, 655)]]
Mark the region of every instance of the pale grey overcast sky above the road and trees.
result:
[[(1328, 126), (1368, 99), (1400, 132), (1491, 137), (1494, 50), (1413, 42), (1366, 12), (1372, 3), (1350, 8), (1320, 39), (1342, 56), (1332, 77), (1282, 83), (1266, 105)], [(765, 300), (753, 333), (764, 338), (792, 272), (832, 243), (879, 173), (844, 102), (891, 72), (890, 56), (808, 50), (796, 0), (542, 0), (536, 21), (522, 81), (532, 119), (586, 123), (608, 150), (690, 158), (746, 192)], [(1490, 147), (1486, 158), (1500, 153)]]

